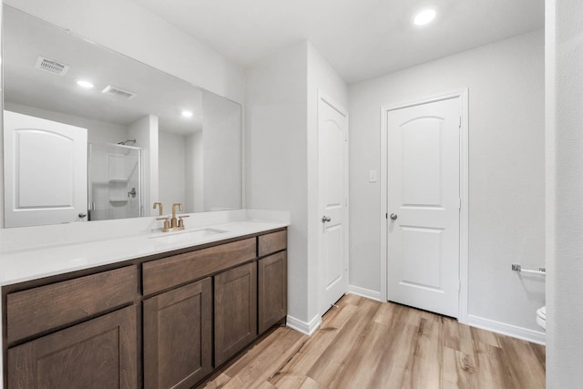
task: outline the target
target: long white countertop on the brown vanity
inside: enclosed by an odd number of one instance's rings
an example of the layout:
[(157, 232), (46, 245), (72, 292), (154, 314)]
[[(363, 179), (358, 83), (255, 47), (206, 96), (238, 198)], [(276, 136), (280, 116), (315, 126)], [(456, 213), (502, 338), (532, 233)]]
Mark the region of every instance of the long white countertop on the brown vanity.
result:
[[(70, 271), (89, 269), (110, 263), (128, 261), (152, 254), (223, 241), (240, 236), (287, 227), (288, 222), (267, 220), (236, 220), (206, 226), (197, 225), (186, 230), (140, 233), (117, 239), (73, 242), (37, 248), (22, 248), (0, 252), (0, 285), (25, 282)], [(177, 236), (195, 230), (220, 230), (208, 236), (176, 241), (165, 237)], [(193, 234), (197, 235), (197, 234)], [(200, 234), (202, 235), (202, 234)], [(189, 238), (192, 235), (189, 235)], [(157, 237), (162, 237), (161, 239)], [(154, 238), (154, 239), (152, 239)]]

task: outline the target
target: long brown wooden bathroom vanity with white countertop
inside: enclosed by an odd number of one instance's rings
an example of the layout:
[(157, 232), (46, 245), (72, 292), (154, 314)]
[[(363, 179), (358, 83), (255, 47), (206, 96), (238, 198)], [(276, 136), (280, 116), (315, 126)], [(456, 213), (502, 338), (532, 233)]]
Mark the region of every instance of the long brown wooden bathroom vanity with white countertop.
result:
[[(287, 227), (220, 228), (191, 231), (195, 244), (171, 233), (89, 242), (78, 249), (109, 245), (108, 263), (4, 282), (5, 387), (189, 388), (285, 322)], [(135, 258), (115, 258), (140, 240)]]

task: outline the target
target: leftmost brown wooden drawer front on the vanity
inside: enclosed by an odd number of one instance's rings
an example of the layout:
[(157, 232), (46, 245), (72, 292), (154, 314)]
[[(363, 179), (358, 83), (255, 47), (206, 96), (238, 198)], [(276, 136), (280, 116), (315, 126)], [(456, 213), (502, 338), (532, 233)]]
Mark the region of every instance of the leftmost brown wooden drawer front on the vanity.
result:
[(110, 311), (133, 302), (137, 294), (135, 265), (9, 293), (8, 343)]

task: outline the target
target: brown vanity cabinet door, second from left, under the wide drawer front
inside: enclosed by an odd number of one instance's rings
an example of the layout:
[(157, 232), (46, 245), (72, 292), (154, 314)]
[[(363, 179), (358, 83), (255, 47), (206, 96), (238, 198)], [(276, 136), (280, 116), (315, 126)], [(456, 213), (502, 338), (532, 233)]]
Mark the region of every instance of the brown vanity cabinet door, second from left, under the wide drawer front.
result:
[(190, 388), (212, 371), (210, 278), (144, 301), (144, 387)]

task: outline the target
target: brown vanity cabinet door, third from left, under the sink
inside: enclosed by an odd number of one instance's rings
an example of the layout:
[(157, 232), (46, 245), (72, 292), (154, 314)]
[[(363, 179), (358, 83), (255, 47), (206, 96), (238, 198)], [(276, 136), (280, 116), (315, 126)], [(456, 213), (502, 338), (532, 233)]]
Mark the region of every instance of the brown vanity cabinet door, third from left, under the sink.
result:
[(215, 366), (257, 337), (257, 263), (215, 276)]

